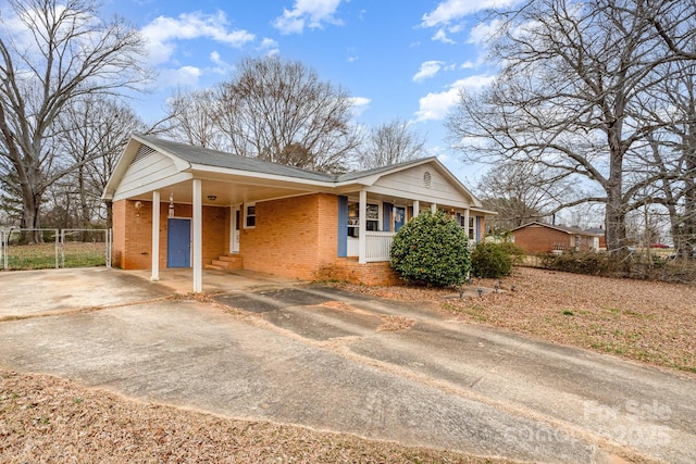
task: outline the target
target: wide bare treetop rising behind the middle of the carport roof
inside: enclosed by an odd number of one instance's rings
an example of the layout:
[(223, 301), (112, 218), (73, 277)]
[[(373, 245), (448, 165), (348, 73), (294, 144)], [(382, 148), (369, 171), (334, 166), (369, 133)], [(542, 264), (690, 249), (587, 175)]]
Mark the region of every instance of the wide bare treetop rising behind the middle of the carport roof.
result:
[(300, 62), (245, 59), (223, 84), (216, 123), (232, 151), (315, 171), (340, 172), (360, 138), (348, 93)]

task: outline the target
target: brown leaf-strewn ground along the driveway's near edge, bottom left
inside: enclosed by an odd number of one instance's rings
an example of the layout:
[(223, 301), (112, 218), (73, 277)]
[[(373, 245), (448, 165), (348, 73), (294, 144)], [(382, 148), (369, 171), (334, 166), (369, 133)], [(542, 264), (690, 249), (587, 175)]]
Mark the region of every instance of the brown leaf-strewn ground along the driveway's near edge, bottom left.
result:
[(0, 461), (80, 463), (505, 463), (302, 427), (144, 404), (0, 369)]

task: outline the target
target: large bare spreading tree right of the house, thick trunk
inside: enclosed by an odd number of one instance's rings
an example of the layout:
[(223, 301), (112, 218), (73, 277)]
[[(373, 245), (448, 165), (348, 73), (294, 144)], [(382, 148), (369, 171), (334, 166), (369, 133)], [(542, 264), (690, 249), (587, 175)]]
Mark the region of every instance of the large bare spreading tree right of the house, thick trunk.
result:
[(506, 27), (492, 46), (504, 63), (498, 78), (478, 96), (462, 95), (447, 124), (470, 159), (532, 162), (594, 186), (581, 201), (605, 205), (612, 253), (625, 252), (625, 215), (644, 204), (636, 196), (660, 178), (627, 168), (661, 127), (639, 117), (642, 98), (667, 63), (683, 59), (667, 52), (650, 3), (537, 0), (501, 15)]

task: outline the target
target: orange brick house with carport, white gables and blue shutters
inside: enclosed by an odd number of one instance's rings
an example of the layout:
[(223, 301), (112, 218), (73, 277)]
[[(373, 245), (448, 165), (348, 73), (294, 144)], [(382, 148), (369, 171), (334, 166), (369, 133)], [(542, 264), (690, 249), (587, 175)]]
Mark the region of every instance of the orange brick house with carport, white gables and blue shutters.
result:
[(134, 135), (102, 198), (113, 202), (113, 265), (245, 268), (368, 285), (397, 280), (395, 233), (426, 209), (481, 240), (481, 202), (437, 159), (333, 175)]

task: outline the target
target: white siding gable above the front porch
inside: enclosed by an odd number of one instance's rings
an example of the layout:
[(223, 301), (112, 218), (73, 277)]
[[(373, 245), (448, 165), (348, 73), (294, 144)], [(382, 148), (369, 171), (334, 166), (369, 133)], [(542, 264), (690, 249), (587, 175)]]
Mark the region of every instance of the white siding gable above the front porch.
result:
[[(423, 185), (425, 172), (431, 174), (431, 187)], [(393, 190), (395, 196), (405, 198), (438, 198), (444, 203), (462, 201), (469, 202), (463, 193), (452, 186), (442, 174), (432, 166), (415, 166), (407, 171), (389, 174), (375, 183), (375, 187)]]

